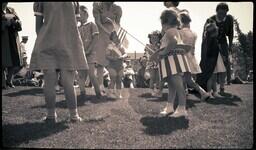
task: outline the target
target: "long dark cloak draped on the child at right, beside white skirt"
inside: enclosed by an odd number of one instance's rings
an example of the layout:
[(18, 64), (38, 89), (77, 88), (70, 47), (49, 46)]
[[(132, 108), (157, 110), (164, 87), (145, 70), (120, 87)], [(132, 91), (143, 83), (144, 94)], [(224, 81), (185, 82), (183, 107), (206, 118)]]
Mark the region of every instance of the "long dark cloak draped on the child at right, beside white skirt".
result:
[(197, 74), (197, 83), (207, 90), (207, 81), (210, 79), (217, 64), (219, 47), (217, 38), (206, 36), (202, 42), (200, 67), (202, 73)]

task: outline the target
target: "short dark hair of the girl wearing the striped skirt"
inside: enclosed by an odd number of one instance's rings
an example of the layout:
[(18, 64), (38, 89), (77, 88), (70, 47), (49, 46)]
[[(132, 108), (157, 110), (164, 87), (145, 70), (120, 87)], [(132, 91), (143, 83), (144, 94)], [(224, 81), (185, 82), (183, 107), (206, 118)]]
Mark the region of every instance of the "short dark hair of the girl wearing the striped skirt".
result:
[(180, 22), (178, 20), (178, 14), (172, 9), (164, 10), (160, 16), (160, 19), (162, 24), (177, 25), (177, 26), (180, 25)]

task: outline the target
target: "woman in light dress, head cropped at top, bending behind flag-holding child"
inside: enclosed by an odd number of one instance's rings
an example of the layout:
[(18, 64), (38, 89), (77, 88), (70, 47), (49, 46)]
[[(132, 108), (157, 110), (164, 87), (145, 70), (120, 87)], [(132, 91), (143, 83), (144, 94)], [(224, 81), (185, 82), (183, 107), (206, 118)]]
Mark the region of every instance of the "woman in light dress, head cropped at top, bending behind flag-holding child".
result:
[(94, 2), (93, 16), (99, 29), (99, 39), (95, 44), (97, 77), (100, 87), (103, 88), (103, 68), (108, 64), (106, 59), (106, 48), (110, 43), (110, 34), (114, 30), (111, 21), (120, 25), (122, 9), (113, 2)]

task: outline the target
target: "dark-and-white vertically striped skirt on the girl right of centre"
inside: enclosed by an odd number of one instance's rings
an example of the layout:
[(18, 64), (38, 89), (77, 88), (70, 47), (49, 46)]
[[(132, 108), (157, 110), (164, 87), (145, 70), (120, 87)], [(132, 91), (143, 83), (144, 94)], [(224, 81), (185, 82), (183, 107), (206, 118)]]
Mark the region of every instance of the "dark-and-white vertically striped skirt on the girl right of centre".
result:
[(191, 72), (188, 59), (183, 54), (169, 55), (160, 60), (159, 73), (161, 79), (177, 73)]

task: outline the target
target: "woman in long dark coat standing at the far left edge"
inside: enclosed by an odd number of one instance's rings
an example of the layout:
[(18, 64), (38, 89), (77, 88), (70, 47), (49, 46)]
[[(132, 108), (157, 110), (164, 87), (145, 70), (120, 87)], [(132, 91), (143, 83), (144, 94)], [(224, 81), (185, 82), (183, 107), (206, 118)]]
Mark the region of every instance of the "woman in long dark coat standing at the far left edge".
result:
[(22, 65), (22, 56), (19, 47), (18, 31), (21, 31), (21, 22), (13, 8), (7, 7), (8, 3), (2, 4), (2, 88), (6, 88), (4, 69), (7, 68), (8, 75), (6, 84), (14, 87), (12, 84), (13, 74)]

